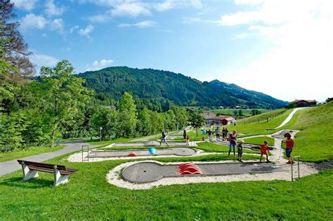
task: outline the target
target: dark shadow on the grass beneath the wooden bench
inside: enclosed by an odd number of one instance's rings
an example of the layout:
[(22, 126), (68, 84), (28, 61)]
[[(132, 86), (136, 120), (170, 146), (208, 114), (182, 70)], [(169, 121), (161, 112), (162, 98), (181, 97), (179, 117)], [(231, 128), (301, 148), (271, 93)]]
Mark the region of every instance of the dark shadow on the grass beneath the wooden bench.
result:
[(19, 187), (22, 189), (40, 189), (53, 187), (53, 180), (32, 178), (31, 180), (23, 181), (22, 177), (13, 177), (0, 181), (0, 186)]

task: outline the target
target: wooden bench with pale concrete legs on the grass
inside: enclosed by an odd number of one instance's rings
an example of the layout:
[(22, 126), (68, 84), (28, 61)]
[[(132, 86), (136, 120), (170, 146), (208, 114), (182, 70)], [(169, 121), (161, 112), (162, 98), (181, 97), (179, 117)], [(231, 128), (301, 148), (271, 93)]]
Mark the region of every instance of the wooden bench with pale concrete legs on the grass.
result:
[(18, 160), (22, 166), (23, 180), (30, 180), (38, 177), (38, 171), (54, 174), (53, 186), (68, 182), (68, 177), (75, 173), (78, 169), (66, 168), (63, 165), (55, 165), (50, 163), (39, 163), (32, 161)]

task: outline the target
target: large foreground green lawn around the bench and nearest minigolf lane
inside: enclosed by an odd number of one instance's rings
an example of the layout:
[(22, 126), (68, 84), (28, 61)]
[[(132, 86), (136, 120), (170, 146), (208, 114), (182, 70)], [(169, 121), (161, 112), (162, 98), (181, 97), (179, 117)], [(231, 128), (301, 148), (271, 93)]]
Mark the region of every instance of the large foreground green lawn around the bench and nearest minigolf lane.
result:
[[(248, 157), (249, 155), (244, 155)], [(224, 155), (198, 157), (218, 160)], [(194, 160), (194, 158), (190, 158)], [(164, 158), (159, 161), (184, 161)], [(1, 220), (331, 220), (333, 170), (297, 182), (259, 181), (171, 185), (129, 190), (107, 183), (109, 170), (126, 161), (52, 163), (79, 168), (67, 185), (53, 175), (22, 182), (18, 171), (0, 178)], [(318, 183), (325, 183), (320, 185)]]

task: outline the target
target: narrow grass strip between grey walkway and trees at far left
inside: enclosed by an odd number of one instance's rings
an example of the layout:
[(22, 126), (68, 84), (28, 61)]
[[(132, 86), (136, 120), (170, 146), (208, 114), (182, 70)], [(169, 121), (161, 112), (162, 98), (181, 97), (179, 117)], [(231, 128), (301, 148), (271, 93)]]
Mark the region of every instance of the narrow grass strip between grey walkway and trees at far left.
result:
[(65, 145), (58, 147), (28, 147), (27, 149), (18, 149), (13, 152), (1, 153), (0, 162), (11, 161), (13, 159), (19, 159), (26, 156), (32, 156), (36, 154), (43, 154), (47, 152), (55, 152), (59, 149), (63, 149)]

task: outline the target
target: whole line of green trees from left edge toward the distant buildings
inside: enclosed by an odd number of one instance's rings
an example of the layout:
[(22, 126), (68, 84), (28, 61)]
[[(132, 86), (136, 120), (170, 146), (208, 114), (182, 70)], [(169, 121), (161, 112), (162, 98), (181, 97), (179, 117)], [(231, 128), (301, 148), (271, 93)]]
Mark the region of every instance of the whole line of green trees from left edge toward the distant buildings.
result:
[(0, 1), (0, 15), (0, 152), (100, 133), (103, 140), (133, 138), (183, 128), (191, 116), (198, 119), (200, 114), (171, 102), (157, 112), (127, 92), (119, 100), (107, 98), (85, 87), (67, 60), (41, 67), (40, 76), (33, 77), (32, 53), (18, 32), (19, 23), (13, 22), (10, 1)]

